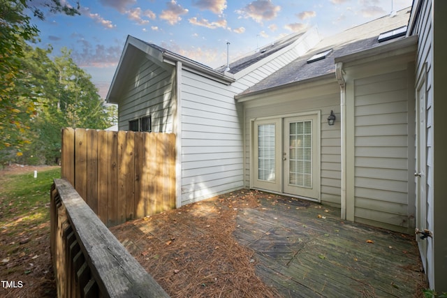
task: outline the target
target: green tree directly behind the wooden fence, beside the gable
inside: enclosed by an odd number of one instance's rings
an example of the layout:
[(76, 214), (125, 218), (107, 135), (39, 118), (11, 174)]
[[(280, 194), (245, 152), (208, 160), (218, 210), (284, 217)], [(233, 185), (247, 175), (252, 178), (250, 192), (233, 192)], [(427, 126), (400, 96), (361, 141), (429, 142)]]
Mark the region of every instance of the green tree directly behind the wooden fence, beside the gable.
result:
[(27, 90), (35, 103), (23, 135), (29, 142), (20, 148), (24, 163), (57, 163), (63, 127), (103, 129), (113, 120), (91, 76), (74, 63), (71, 52), (63, 49), (54, 59), (51, 54), (51, 48), (29, 47), (21, 62), (17, 89)]

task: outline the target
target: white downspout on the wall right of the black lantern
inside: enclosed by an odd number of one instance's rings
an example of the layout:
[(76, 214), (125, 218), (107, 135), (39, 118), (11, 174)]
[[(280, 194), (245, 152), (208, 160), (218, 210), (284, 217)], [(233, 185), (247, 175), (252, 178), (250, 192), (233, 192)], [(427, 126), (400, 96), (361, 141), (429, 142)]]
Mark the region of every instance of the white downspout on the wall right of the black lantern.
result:
[(340, 118), (341, 118), (341, 144), (342, 151), (342, 198), (341, 217), (346, 219), (346, 81), (344, 80), (343, 62), (335, 64), (335, 77), (340, 86)]

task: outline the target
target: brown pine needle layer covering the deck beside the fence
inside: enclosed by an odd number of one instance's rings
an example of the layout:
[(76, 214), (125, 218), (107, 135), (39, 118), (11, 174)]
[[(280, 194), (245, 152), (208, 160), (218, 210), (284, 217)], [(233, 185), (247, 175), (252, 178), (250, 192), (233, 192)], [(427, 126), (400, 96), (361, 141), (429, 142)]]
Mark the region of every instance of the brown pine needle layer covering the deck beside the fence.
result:
[(261, 207), (261, 195), (270, 204), (280, 197), (235, 191), (110, 230), (170, 297), (280, 297), (256, 276), (254, 251), (233, 236), (237, 212)]

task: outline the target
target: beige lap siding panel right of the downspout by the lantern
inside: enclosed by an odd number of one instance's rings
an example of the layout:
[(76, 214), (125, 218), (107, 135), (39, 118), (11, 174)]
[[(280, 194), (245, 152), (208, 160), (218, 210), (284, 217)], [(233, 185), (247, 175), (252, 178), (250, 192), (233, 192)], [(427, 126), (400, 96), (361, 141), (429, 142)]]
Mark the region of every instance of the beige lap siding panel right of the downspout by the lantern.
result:
[[(356, 221), (407, 228), (406, 70), (355, 81)], [(397, 228), (399, 230), (399, 228)]]

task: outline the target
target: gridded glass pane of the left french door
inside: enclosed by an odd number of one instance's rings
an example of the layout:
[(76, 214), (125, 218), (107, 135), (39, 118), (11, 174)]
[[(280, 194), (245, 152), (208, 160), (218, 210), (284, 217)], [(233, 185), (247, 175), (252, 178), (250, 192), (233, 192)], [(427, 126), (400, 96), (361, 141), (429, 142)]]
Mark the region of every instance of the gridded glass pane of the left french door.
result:
[(274, 181), (275, 179), (275, 125), (261, 124), (258, 126), (258, 179)]

